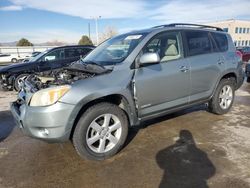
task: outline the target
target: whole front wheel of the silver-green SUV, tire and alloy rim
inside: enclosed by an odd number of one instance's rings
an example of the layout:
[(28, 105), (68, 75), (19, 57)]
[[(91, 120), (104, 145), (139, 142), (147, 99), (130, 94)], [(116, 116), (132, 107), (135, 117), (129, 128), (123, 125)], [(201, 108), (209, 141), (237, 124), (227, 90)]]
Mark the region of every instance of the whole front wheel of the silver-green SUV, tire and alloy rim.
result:
[[(104, 119), (109, 117), (109, 123), (105, 123)], [(118, 126), (119, 122), (120, 126)], [(115, 130), (114, 127), (112, 128), (113, 125), (119, 128)], [(105, 102), (86, 110), (76, 125), (72, 140), (77, 153), (82, 158), (104, 160), (120, 151), (127, 135), (128, 118), (125, 112), (118, 106)]]

